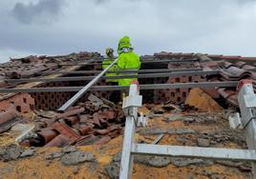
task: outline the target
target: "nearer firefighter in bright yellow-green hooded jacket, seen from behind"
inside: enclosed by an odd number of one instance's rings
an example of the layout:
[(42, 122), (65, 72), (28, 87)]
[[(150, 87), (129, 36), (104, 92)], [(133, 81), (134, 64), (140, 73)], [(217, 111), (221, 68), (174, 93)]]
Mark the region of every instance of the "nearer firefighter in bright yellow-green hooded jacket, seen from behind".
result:
[[(117, 52), (119, 55), (117, 60), (118, 70), (139, 70), (139, 55), (134, 52), (128, 36), (124, 36), (119, 40)], [(118, 75), (129, 74), (137, 74), (137, 72), (118, 73)], [(130, 86), (134, 82), (138, 83), (138, 78), (119, 79), (118, 86)], [(122, 97), (123, 95), (124, 94), (122, 94)]]

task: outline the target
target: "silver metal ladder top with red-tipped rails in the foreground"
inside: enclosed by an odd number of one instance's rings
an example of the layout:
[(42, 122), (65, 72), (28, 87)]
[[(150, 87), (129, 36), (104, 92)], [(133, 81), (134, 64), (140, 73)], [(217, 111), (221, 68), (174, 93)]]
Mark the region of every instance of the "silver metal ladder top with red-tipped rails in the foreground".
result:
[[(119, 179), (131, 178), (134, 154), (249, 161), (253, 163), (253, 174), (256, 177), (256, 112), (250, 116), (243, 113), (247, 112), (246, 109), (251, 110), (249, 108), (254, 109), (253, 111), (256, 109), (256, 95), (252, 91), (252, 85), (250, 84), (249, 86), (246, 84), (242, 87), (241, 92), (239, 92), (239, 99), (241, 98), (240, 108), (242, 111), (242, 117), (246, 118), (246, 121), (248, 121), (247, 118), (249, 118), (249, 122), (251, 123), (248, 125), (250, 130), (245, 132), (246, 138), (249, 138), (247, 140), (247, 143), (249, 143), (249, 149), (215, 149), (136, 144), (134, 135), (139, 120), (138, 107), (141, 107), (142, 105), (142, 96), (139, 95), (139, 88), (136, 84), (130, 85), (129, 96), (123, 100), (122, 105), (122, 109), (126, 115), (126, 121), (123, 136)], [(243, 96), (247, 97), (244, 98)], [(246, 104), (248, 99), (250, 100), (250, 103)]]

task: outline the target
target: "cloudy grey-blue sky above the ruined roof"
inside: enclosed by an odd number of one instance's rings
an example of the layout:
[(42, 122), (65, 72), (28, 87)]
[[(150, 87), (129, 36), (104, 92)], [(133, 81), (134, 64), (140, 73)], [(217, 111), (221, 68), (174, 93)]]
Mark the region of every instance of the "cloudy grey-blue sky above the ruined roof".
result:
[(0, 62), (117, 49), (256, 56), (255, 0), (0, 0)]

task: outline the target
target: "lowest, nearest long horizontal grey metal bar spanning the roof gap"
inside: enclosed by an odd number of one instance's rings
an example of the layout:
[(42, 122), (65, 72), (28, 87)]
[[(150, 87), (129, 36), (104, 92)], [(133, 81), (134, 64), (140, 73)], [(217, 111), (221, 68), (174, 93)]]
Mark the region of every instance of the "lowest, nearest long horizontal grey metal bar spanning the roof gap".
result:
[[(222, 88), (222, 87), (237, 87), (238, 81), (225, 82), (201, 82), (201, 83), (176, 83), (176, 84), (148, 84), (139, 85), (139, 89), (190, 89), (190, 88)], [(89, 91), (111, 91), (125, 90), (129, 86), (95, 86), (88, 89)], [(55, 87), (55, 88), (19, 88), (19, 89), (0, 89), (0, 93), (11, 92), (65, 92), (78, 91), (83, 87)]]

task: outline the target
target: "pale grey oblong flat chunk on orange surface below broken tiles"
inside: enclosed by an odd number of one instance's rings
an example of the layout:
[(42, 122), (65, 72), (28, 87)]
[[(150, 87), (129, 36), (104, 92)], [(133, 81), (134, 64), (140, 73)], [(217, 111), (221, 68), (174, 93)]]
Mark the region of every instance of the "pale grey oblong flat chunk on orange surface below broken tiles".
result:
[(96, 157), (91, 152), (75, 151), (66, 153), (61, 157), (61, 163), (65, 166), (73, 166), (83, 162), (92, 162)]

